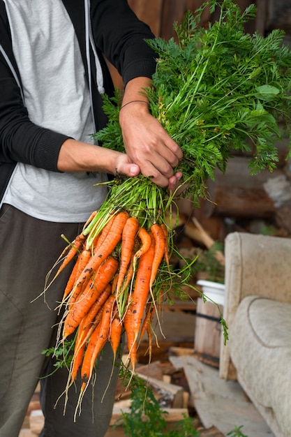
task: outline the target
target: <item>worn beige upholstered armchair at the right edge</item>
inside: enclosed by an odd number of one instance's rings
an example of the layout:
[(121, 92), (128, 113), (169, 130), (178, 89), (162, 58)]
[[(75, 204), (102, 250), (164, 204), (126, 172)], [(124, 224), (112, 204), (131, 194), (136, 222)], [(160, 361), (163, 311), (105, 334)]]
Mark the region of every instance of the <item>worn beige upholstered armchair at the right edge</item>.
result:
[(276, 437), (291, 436), (291, 239), (225, 239), (220, 376), (237, 379)]

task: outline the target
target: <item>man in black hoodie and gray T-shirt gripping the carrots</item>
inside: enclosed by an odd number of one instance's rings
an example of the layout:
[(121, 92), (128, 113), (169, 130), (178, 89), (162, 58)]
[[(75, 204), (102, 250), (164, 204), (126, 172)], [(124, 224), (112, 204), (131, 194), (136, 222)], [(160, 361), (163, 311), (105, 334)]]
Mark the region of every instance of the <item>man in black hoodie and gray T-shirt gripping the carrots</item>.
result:
[[(117, 381), (116, 371), (101, 403), (110, 348), (75, 422), (78, 390), (70, 390), (64, 415), (64, 401), (55, 404), (67, 370), (53, 372), (53, 361), (41, 355), (54, 346), (54, 309), (70, 272), (54, 281), (45, 302), (36, 297), (64, 248), (61, 233), (73, 241), (103, 202), (106, 190), (94, 184), (107, 173), (142, 172), (169, 189), (181, 177), (173, 172), (181, 150), (140, 94), (155, 70), (144, 42), (152, 37), (126, 0), (0, 0), (0, 437), (19, 435), (39, 378), (42, 437), (101, 437), (107, 430)], [(106, 124), (101, 94), (113, 91), (103, 53), (125, 84), (127, 154), (91, 137)]]

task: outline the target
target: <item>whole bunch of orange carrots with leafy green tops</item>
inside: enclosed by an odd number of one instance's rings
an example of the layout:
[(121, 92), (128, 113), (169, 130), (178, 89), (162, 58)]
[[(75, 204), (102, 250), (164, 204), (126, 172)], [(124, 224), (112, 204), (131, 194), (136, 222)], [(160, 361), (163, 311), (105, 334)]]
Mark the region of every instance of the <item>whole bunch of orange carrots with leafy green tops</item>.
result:
[[(221, 9), (219, 19), (200, 27), (202, 11), (209, 7), (211, 13)], [(179, 196), (193, 198), (197, 205), (207, 197), (207, 179), (214, 179), (216, 168), (225, 171), (234, 149), (248, 151), (251, 141), (251, 174), (264, 168), (272, 171), (278, 161), (274, 144), (281, 139), (279, 120), (291, 135), (291, 52), (278, 31), (267, 38), (245, 34), (244, 23), (254, 15), (255, 7), (241, 14), (232, 0), (206, 1), (195, 16), (186, 13), (181, 26), (174, 26), (178, 43), (174, 38), (148, 41), (158, 60), (153, 86), (143, 94), (149, 98), (151, 114), (184, 153)], [(124, 151), (119, 97), (119, 92), (112, 99), (103, 95), (109, 124), (95, 136), (103, 147)], [(158, 315), (157, 309), (174, 287), (181, 290), (182, 283), (189, 285), (186, 276), (195, 261), (185, 260), (179, 271), (169, 265), (173, 232), (165, 224), (172, 223), (177, 191), (167, 193), (142, 175), (116, 177), (106, 184), (107, 199), (81, 235), (69, 242), (57, 272), (75, 259), (61, 302), (64, 318), (57, 348), (75, 333), (68, 385), (80, 370), (81, 398), (107, 341), (115, 360), (122, 332), (134, 371), (144, 332), (151, 343), (154, 313)], [(222, 316), (221, 324), (226, 341)]]

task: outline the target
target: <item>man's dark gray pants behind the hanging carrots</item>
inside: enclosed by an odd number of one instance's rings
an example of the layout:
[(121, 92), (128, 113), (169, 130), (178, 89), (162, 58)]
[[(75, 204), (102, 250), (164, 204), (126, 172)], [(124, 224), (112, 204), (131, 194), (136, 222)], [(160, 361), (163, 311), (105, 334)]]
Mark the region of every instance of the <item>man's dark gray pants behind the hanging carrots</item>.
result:
[[(98, 363), (93, 387), (82, 401), (82, 412), (73, 416), (78, 387), (71, 387), (64, 414), (68, 371), (54, 369), (41, 354), (54, 346), (57, 307), (71, 267), (67, 267), (43, 296), (45, 276), (66, 246), (61, 234), (73, 241), (82, 224), (51, 223), (23, 214), (10, 205), (0, 211), (0, 437), (18, 437), (31, 396), (41, 383), (45, 427), (41, 437), (103, 437), (112, 414), (118, 369), (103, 401), (112, 371), (107, 344)], [(38, 297), (38, 299), (36, 299)], [(93, 390), (93, 393), (92, 393)]]

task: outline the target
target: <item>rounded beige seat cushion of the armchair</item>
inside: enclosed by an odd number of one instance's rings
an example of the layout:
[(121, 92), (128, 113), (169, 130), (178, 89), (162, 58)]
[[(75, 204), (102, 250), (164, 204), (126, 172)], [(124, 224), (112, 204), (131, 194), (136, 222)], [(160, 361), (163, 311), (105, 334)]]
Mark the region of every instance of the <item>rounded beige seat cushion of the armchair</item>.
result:
[(248, 296), (230, 330), (230, 357), (241, 387), (276, 437), (291, 429), (291, 304)]

